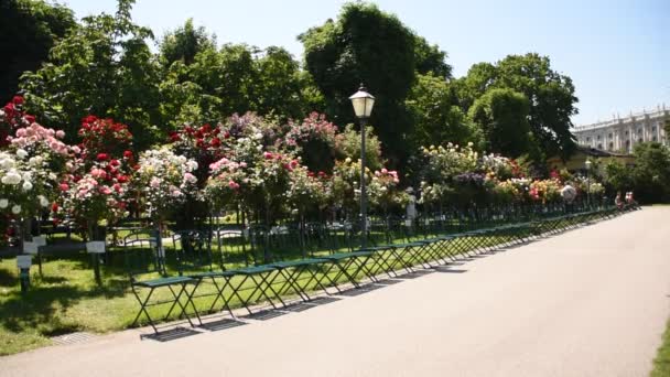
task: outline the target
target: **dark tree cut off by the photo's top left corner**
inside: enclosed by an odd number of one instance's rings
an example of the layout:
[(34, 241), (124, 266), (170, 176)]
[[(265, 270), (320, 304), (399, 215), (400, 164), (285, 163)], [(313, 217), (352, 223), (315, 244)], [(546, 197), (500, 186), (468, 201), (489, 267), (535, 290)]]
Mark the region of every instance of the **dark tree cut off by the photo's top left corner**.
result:
[(71, 9), (41, 0), (3, 0), (0, 2), (0, 103), (17, 93), (19, 77), (34, 71), (48, 56), (48, 51), (76, 25)]

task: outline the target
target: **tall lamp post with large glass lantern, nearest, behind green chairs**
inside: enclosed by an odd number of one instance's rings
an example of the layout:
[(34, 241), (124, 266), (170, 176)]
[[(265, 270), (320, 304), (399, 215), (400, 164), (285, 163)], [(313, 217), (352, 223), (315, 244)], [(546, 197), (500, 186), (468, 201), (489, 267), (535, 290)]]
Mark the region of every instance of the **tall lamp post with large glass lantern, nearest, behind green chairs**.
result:
[(367, 247), (368, 238), (368, 222), (367, 222), (367, 192), (365, 183), (365, 123), (370, 118), (372, 106), (375, 106), (375, 97), (367, 93), (365, 86), (360, 84), (360, 88), (349, 97), (354, 106), (354, 112), (360, 123), (360, 246)]

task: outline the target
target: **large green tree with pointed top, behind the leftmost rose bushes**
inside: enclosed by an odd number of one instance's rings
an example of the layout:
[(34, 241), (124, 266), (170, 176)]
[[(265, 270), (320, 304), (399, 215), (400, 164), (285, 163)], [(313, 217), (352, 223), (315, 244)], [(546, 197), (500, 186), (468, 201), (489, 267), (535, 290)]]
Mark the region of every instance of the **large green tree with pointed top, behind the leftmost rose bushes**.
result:
[(140, 149), (158, 138), (159, 69), (144, 42), (153, 34), (132, 23), (132, 3), (119, 0), (115, 15), (84, 18), (52, 49), (50, 63), (22, 78), (29, 110), (63, 125), (68, 141), (87, 115), (127, 123)]

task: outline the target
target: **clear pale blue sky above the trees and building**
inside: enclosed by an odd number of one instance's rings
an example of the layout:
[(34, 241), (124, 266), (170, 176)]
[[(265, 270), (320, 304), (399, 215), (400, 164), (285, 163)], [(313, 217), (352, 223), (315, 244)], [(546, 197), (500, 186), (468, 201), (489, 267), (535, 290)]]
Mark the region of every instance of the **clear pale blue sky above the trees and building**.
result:
[[(77, 17), (114, 12), (116, 0), (64, 0)], [(137, 23), (156, 37), (188, 18), (219, 43), (280, 45), (302, 58), (296, 35), (328, 18), (339, 0), (138, 0)], [(668, 0), (378, 0), (387, 12), (449, 53), (455, 75), (478, 62), (538, 52), (574, 80), (575, 125), (630, 110), (670, 107), (670, 1)]]

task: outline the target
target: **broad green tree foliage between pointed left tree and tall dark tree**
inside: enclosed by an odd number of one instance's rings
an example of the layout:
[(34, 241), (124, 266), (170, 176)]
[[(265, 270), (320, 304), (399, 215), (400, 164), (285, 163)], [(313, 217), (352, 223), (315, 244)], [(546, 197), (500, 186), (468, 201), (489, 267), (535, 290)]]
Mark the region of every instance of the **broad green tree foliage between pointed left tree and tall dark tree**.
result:
[[(233, 114), (255, 111), (282, 120), (309, 114), (320, 93), (284, 49), (246, 44), (208, 46), (191, 65), (173, 63), (160, 84), (163, 123), (215, 123)], [(309, 99), (303, 99), (309, 98)]]

